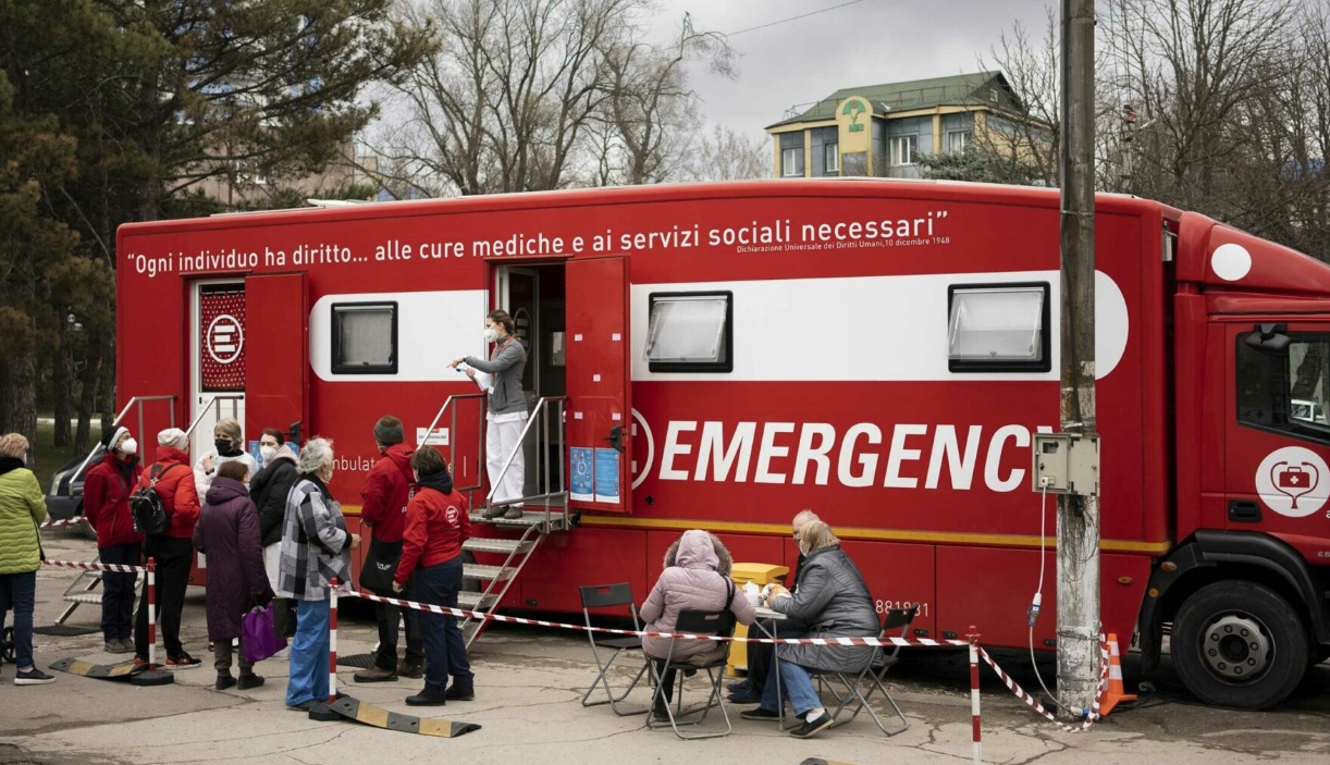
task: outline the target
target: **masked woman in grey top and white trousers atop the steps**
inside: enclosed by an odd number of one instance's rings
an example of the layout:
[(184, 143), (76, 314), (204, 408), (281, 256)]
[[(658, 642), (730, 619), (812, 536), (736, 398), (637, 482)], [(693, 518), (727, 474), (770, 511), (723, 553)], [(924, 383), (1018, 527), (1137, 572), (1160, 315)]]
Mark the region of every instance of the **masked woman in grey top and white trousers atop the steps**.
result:
[[(516, 327), (508, 311), (489, 311), (485, 317), (485, 342), (495, 350), (488, 359), (459, 357), (448, 366), (467, 363), (467, 377), (476, 379), (476, 371), (493, 375), (489, 390), (489, 412), (485, 414), (485, 471), (489, 486), (495, 488), (495, 506), (485, 508), (484, 518), (521, 518), (520, 500), (527, 484), (527, 460), (521, 443), (521, 431), (527, 427), (527, 396), (521, 392), (521, 374), (527, 369), (527, 346), (516, 334)], [(503, 466), (512, 455), (512, 464)], [(501, 475), (500, 475), (501, 474)], [(512, 503), (512, 504), (503, 504)]]

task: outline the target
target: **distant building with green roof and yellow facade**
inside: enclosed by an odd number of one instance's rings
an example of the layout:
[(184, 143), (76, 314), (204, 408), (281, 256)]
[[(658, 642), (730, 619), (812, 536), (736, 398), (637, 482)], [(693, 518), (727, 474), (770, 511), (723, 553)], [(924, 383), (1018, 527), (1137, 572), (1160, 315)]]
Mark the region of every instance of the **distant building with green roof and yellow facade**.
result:
[(783, 178), (918, 178), (920, 154), (964, 152), (976, 129), (1011, 132), (1025, 109), (1001, 72), (842, 88), (766, 132)]

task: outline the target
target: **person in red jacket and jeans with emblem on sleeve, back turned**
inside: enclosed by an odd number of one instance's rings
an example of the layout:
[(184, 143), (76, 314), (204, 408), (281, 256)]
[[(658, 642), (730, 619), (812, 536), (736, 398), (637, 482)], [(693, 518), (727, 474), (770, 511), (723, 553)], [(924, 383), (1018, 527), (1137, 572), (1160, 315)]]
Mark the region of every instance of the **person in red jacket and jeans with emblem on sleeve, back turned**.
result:
[[(407, 506), (402, 561), (392, 589), (403, 592), (410, 583), (419, 603), (456, 608), (462, 589), (462, 543), (471, 539), (467, 500), (452, 488), (448, 466), (432, 446), (418, 451), (411, 458), (411, 467), (416, 492)], [(424, 688), (407, 697), (407, 704), (442, 706), (450, 700), (475, 698), (475, 675), (456, 617), (424, 611), (420, 627), (424, 632)]]

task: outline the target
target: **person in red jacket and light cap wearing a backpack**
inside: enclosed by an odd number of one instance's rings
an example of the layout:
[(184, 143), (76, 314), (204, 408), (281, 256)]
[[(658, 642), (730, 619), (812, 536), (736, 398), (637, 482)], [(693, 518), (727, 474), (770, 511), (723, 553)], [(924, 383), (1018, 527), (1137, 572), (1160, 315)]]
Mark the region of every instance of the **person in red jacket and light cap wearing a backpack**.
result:
[[(180, 616), (185, 611), (189, 567), (194, 561), (194, 524), (198, 523), (198, 488), (185, 454), (188, 436), (178, 427), (157, 434), (157, 462), (144, 471), (138, 486), (157, 482), (169, 522), (162, 534), (144, 540), (144, 556), (157, 561), (157, 615), (166, 647), (166, 669), (192, 669), (202, 664), (180, 643)], [(134, 619), (134, 664), (148, 663), (148, 580), (144, 580), (138, 616)]]

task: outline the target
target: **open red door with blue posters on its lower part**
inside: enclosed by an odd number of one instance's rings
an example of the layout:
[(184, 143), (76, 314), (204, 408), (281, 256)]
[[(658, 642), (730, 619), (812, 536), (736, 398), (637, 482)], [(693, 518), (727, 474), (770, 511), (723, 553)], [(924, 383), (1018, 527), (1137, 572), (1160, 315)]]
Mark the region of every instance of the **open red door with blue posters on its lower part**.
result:
[(629, 285), (622, 255), (567, 265), (569, 508), (630, 512)]

